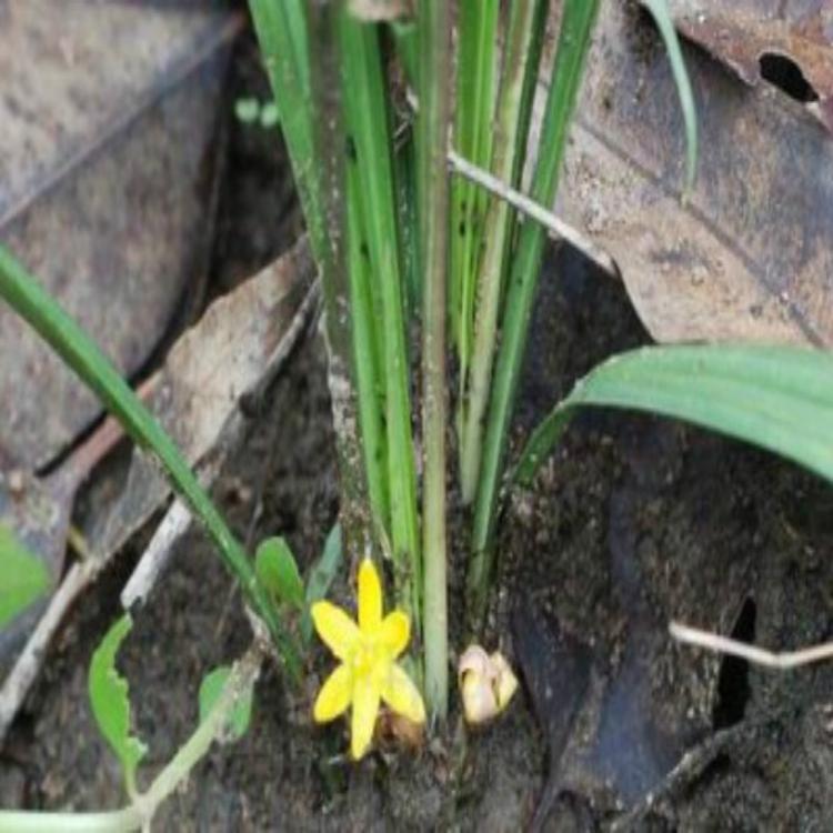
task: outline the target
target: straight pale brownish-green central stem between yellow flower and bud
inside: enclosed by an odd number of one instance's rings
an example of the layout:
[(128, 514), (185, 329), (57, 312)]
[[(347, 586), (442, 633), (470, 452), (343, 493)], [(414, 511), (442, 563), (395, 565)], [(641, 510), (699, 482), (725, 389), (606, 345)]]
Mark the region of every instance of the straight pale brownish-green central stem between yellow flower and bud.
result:
[(445, 534), (445, 270), (449, 175), (445, 165), (451, 73), (449, 0), (419, 6), (420, 262), (422, 305), (422, 552), (425, 584), (425, 696), (440, 720), (448, 712), (448, 601)]

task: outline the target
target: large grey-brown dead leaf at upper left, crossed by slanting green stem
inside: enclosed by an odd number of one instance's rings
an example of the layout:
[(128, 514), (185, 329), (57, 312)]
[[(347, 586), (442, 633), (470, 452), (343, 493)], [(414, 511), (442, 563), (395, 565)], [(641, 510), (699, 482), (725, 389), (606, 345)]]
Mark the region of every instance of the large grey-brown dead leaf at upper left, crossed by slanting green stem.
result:
[[(0, 239), (132, 374), (204, 273), (239, 19), (122, 2), (54, 14), (0, 3)], [(100, 407), (8, 309), (0, 364), (0, 461), (40, 469)]]

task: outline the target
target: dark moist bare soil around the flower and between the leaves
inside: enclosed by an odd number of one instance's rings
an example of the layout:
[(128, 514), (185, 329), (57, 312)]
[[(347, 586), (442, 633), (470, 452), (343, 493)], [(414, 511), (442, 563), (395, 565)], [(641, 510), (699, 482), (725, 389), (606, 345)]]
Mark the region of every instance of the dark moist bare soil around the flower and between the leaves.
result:
[[(252, 66), (244, 48), (234, 94), (264, 91)], [(229, 160), (218, 291), (287, 248), (297, 228), (274, 137), (230, 119)], [(287, 222), (273, 223), (275, 212)], [(553, 252), (516, 441), (576, 377), (646, 341), (618, 282)], [(320, 552), (338, 489), (319, 338), (278, 380), (215, 494), (250, 542), (285, 535), (302, 564)], [(827, 486), (681, 424), (588, 412), (534, 488), (508, 495), (502, 530), (488, 646), (500, 644), (524, 681), (502, 721), (463, 739), (452, 720), (418, 756), (350, 765), (343, 726), (309, 720), (317, 679), (298, 694), (269, 670), (250, 732), (212, 752), (158, 829), (833, 829), (833, 668), (766, 672), (666, 634), (680, 619), (773, 648), (831, 639)], [(54, 645), (0, 757), (2, 805), (123, 801), (86, 675), (140, 550), (81, 601)], [(348, 588), (343, 576), (337, 594)], [(121, 653), (150, 747), (145, 781), (192, 730), (202, 675), (249, 639), (239, 595), (194, 534)], [(318, 674), (328, 665), (317, 652)]]

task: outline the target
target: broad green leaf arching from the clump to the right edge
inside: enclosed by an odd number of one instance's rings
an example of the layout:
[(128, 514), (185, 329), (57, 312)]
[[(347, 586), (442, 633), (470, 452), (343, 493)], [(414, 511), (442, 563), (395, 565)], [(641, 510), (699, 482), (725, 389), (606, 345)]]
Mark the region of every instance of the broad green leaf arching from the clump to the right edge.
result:
[(643, 348), (581, 380), (535, 430), (518, 466), (529, 482), (576, 408), (673, 416), (760, 445), (833, 482), (833, 354), (801, 348)]

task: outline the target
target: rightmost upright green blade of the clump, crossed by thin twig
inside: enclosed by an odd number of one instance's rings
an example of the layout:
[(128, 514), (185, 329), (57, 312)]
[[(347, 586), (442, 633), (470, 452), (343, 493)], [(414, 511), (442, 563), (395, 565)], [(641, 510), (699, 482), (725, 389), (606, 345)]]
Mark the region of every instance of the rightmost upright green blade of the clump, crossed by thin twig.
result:
[[(544, 205), (552, 205), (555, 200), (568, 128), (598, 9), (599, 0), (566, 0), (564, 3), (531, 194), (536, 202)], [(493, 560), (492, 536), (498, 491), (545, 235), (546, 232), (538, 223), (524, 223), (506, 292), (502, 341), (483, 445), (474, 514), (473, 552), (469, 568), (468, 601), (470, 618), (475, 629), (480, 628), (485, 613)]]

